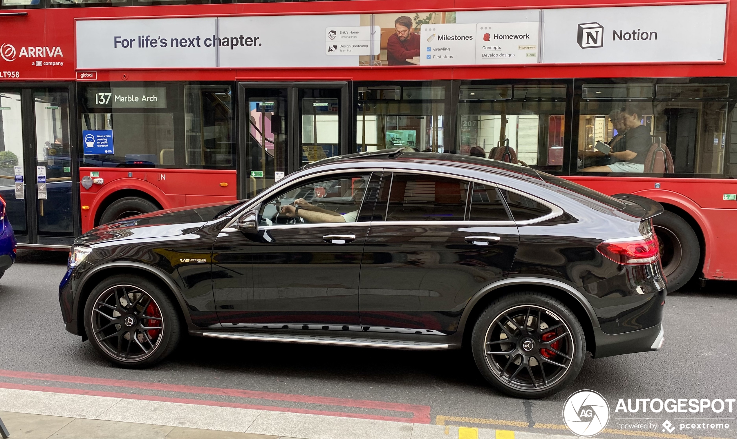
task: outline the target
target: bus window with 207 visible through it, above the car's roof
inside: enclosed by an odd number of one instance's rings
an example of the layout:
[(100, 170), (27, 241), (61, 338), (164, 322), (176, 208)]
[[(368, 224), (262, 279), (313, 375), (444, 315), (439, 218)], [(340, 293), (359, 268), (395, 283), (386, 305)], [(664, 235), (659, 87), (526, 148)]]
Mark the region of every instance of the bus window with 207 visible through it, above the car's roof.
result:
[(559, 171), (565, 137), (565, 84), (461, 82), (458, 154)]

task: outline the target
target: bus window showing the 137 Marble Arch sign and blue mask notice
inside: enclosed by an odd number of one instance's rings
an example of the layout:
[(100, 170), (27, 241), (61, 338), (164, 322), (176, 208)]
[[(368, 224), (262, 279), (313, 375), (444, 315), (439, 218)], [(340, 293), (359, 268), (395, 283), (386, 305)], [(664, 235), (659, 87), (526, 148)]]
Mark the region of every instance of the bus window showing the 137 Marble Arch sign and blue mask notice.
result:
[[(176, 85), (83, 85), (81, 166), (173, 167)], [(96, 141), (112, 135), (112, 141)]]

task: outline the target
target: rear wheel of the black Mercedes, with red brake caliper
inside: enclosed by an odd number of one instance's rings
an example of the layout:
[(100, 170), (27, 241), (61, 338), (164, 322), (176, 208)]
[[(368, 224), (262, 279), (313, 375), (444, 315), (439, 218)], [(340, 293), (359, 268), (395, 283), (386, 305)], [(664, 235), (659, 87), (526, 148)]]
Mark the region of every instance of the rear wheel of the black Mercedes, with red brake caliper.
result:
[(576, 379), (584, 364), (581, 323), (564, 303), (539, 292), (515, 292), (489, 304), (473, 328), (478, 369), (497, 390), (542, 398)]

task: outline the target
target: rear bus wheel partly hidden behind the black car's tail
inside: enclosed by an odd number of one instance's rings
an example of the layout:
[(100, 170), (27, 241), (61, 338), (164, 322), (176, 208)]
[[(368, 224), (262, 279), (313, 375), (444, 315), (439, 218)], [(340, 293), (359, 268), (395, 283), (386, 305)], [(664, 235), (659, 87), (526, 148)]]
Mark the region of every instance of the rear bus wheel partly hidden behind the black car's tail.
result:
[(663, 274), (668, 279), (668, 292), (675, 292), (691, 279), (699, 266), (699, 239), (691, 225), (673, 212), (664, 211), (652, 222), (660, 244), (660, 260)]

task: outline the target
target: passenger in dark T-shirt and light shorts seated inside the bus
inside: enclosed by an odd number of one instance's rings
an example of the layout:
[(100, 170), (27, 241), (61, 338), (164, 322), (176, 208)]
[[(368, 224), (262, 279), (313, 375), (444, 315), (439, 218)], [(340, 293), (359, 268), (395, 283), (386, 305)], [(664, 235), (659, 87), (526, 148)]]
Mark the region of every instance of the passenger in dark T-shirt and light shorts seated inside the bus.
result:
[[(642, 124), (642, 110), (636, 105), (625, 105), (621, 108), (621, 123), (626, 132), (617, 144), (621, 144), (621, 151), (612, 150), (609, 157), (618, 161), (605, 166), (589, 166), (584, 172), (644, 172), (645, 158), (652, 146), (650, 131)], [(610, 145), (612, 146), (612, 145)]]

